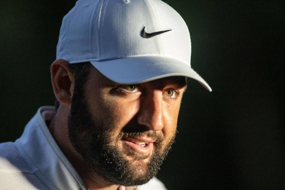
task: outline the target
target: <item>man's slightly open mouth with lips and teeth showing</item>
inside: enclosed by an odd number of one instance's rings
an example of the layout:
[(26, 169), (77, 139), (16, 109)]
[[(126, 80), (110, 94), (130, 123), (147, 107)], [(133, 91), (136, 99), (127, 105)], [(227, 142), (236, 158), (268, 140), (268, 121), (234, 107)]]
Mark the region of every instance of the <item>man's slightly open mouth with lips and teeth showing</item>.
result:
[(153, 139), (148, 138), (131, 138), (126, 137), (122, 139), (124, 145), (132, 148), (134, 151), (141, 155), (148, 155), (153, 150), (153, 143), (155, 142)]

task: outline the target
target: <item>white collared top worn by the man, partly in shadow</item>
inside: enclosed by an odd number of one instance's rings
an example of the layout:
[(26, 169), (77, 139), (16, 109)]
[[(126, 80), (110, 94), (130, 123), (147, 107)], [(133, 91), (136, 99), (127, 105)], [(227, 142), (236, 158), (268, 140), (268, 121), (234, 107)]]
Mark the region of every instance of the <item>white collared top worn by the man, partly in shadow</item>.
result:
[[(40, 107), (19, 139), (0, 144), (1, 190), (87, 190), (45, 124), (45, 113), (53, 109)], [(137, 190), (166, 189), (162, 182), (153, 178)]]

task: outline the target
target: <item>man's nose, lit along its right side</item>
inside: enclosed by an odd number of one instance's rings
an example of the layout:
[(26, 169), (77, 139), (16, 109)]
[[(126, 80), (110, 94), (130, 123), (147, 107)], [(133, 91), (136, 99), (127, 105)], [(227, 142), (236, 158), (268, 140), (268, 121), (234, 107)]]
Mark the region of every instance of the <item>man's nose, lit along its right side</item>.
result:
[(162, 130), (164, 127), (162, 92), (152, 91), (141, 101), (137, 122), (148, 126), (153, 131)]

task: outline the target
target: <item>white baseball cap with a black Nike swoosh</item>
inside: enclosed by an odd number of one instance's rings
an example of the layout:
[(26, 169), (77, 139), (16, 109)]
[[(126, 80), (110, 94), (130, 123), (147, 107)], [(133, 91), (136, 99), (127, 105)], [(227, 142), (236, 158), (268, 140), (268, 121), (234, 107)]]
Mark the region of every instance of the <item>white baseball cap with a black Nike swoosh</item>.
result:
[(170, 76), (197, 80), (183, 18), (160, 0), (79, 0), (63, 18), (57, 59), (90, 61), (116, 83), (138, 84)]

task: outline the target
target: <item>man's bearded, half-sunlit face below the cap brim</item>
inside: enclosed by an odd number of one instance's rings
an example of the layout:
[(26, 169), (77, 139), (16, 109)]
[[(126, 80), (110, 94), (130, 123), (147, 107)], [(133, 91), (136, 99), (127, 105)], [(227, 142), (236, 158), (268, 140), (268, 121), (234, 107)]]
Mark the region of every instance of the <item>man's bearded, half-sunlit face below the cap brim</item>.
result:
[(147, 183), (174, 141), (185, 88), (185, 77), (119, 85), (91, 66), (85, 86), (73, 94), (69, 139), (106, 181)]

